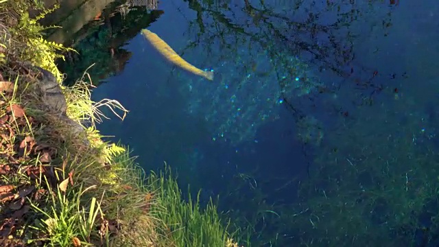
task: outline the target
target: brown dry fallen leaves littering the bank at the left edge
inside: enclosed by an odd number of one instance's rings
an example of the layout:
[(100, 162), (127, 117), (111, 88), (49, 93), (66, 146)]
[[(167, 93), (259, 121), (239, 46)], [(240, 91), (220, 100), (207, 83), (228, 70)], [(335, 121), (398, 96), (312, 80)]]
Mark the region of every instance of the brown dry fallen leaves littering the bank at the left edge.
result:
[[(11, 87), (13, 89), (13, 84), (0, 82), (0, 91), (10, 92)], [(49, 180), (49, 186), (56, 185), (51, 165), (56, 147), (37, 141), (29, 134), (30, 126), (38, 128), (41, 123), (27, 117), (20, 104), (5, 108), (4, 115), (0, 116), (0, 246), (24, 246), (20, 239), (27, 233), (18, 230), (32, 220), (26, 198), (44, 203), (48, 189), (43, 187), (44, 183), (37, 184), (43, 176)], [(71, 175), (64, 181), (64, 184), (69, 181), (73, 184)]]

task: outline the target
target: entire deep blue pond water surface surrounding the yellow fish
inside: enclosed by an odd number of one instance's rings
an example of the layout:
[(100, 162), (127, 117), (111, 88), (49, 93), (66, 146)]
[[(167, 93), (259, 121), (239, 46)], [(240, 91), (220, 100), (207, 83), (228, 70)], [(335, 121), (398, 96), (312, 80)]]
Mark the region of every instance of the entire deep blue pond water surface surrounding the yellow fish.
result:
[(219, 195), (252, 246), (439, 245), (436, 1), (121, 4), (52, 37), (80, 52), (67, 84), (95, 63), (93, 99), (130, 110), (98, 128), (145, 170)]

